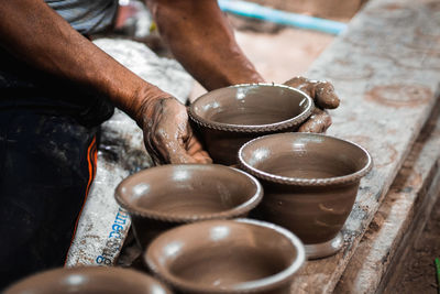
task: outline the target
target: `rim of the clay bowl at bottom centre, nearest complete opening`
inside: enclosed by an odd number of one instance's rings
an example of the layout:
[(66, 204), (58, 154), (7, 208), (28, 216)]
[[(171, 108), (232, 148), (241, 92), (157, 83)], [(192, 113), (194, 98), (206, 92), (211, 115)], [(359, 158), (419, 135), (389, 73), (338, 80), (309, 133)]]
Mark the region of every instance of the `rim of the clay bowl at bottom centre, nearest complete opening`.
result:
[[(286, 281), (292, 280), (294, 274), (305, 263), (305, 261), (306, 261), (305, 247), (304, 247), (302, 242), (299, 240), (299, 238), (296, 237), (289, 230), (280, 227), (280, 226), (274, 225), (272, 222), (256, 220), (256, 219), (249, 219), (249, 218), (238, 218), (238, 219), (231, 219), (231, 220), (227, 220), (227, 221), (250, 224), (250, 225), (265, 227), (265, 228), (275, 230), (276, 232), (284, 236), (292, 242), (292, 244), (295, 247), (295, 249), (297, 251), (297, 258), (288, 268), (286, 268), (285, 270), (283, 270), (279, 273), (276, 273), (274, 275), (263, 277), (260, 280), (255, 280), (255, 281), (243, 282), (238, 285), (234, 285), (231, 288), (199, 286), (199, 285), (195, 285), (191, 282), (187, 282), (184, 279), (176, 277), (168, 271), (160, 272), (157, 270), (157, 268), (154, 265), (154, 263), (151, 261), (151, 259), (148, 258), (148, 249), (144, 252), (144, 261), (148, 265), (148, 268), (157, 275), (157, 277), (163, 280), (165, 283), (176, 286), (178, 290), (183, 290), (184, 292), (188, 292), (188, 293), (212, 293), (212, 294), (258, 293), (258, 292), (270, 291), (272, 288), (276, 288), (276, 287), (283, 285), (284, 283), (286, 283)], [(200, 224), (200, 222), (189, 224), (187, 226), (197, 225), (197, 224)], [(175, 229), (178, 229), (178, 228), (182, 228), (182, 227), (177, 227)], [(169, 232), (169, 231), (165, 231), (162, 235), (165, 235), (167, 232)], [(161, 236), (158, 236), (157, 238), (160, 238), (160, 237)]]

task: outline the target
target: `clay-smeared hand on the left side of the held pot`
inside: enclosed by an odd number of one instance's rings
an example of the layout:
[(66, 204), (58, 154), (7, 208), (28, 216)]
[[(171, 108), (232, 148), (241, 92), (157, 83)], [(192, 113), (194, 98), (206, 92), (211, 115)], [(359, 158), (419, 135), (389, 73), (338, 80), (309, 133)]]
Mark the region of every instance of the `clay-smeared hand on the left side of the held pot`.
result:
[(151, 99), (141, 112), (145, 148), (155, 164), (212, 162), (194, 137), (187, 110), (177, 99)]

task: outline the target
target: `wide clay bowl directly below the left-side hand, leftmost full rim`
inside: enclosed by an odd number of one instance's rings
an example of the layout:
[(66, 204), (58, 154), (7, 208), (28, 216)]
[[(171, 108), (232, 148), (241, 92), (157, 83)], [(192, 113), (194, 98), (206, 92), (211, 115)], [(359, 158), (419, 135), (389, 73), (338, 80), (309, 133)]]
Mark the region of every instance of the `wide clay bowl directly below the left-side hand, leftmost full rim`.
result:
[(133, 174), (116, 189), (131, 215), (141, 248), (160, 232), (207, 219), (244, 217), (263, 197), (253, 176), (218, 164), (152, 167)]

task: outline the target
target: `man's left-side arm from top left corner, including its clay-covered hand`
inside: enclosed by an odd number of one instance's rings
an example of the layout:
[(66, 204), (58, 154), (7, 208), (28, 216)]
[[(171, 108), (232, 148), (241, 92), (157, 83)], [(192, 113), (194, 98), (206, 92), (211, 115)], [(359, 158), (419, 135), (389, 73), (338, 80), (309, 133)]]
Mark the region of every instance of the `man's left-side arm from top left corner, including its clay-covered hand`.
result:
[(110, 99), (144, 130), (157, 162), (206, 162), (183, 105), (76, 32), (42, 0), (0, 2), (0, 45), (46, 73)]

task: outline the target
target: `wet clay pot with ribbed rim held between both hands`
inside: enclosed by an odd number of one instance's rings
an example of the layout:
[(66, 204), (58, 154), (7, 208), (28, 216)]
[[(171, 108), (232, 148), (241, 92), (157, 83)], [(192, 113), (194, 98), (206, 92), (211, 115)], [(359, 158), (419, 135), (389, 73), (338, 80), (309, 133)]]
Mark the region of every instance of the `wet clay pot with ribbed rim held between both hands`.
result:
[(305, 92), (277, 84), (243, 84), (209, 91), (189, 117), (215, 163), (237, 164), (237, 153), (257, 137), (296, 131), (314, 109)]

